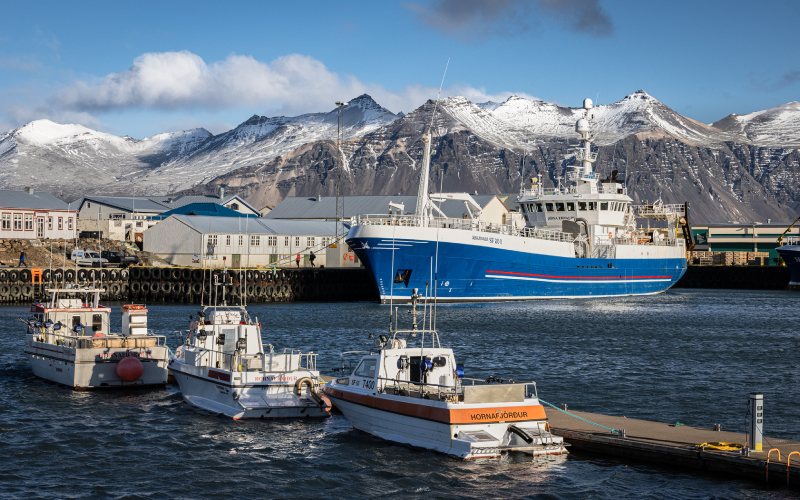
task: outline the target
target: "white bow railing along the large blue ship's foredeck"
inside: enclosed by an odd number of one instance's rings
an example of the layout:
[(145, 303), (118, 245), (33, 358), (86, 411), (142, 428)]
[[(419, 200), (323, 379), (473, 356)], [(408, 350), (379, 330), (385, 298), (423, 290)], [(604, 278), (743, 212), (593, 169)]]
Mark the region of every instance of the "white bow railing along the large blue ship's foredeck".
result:
[[(353, 217), (354, 225), (366, 226), (401, 226), (417, 227), (421, 225), (420, 217), (416, 215), (357, 215)], [(458, 219), (453, 217), (432, 217), (427, 221), (427, 227), (439, 229), (461, 229), (465, 231), (479, 231), (508, 236), (523, 236), (550, 241), (564, 241), (571, 243), (575, 236), (555, 229), (540, 229), (533, 227), (518, 228), (510, 224), (496, 224), (477, 219)], [(502, 243), (489, 241), (490, 243)]]

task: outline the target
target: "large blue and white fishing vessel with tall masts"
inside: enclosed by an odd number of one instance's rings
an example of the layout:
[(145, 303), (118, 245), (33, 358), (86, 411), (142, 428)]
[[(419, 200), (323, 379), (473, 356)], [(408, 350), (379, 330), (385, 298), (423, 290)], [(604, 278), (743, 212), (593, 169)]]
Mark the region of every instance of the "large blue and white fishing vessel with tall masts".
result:
[[(428, 193), (429, 130), (415, 213), (357, 216), (346, 238), (381, 300), (408, 300), (414, 288), (441, 301), (496, 301), (645, 295), (674, 285), (686, 271), (685, 206), (634, 206), (616, 171), (600, 179), (592, 101), (583, 108), (578, 165), (555, 188), (532, 179), (518, 197), (520, 223), (480, 220), (465, 193)], [(436, 205), (445, 199), (463, 200), (471, 216), (445, 217)]]

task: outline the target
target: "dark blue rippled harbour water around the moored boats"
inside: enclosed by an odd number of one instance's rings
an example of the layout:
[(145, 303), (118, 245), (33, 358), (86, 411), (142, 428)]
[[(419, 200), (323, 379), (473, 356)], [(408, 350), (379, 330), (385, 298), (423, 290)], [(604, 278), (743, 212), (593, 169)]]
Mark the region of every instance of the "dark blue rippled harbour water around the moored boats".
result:
[[(185, 404), (176, 387), (74, 392), (35, 378), (22, 354), (27, 307), (0, 308), (0, 496), (44, 498), (783, 498), (729, 477), (591, 455), (461, 462), (322, 421), (238, 421)], [(747, 395), (764, 393), (765, 430), (800, 439), (800, 294), (666, 294), (440, 306), (443, 342), (466, 375), (534, 379), (571, 408), (744, 431)], [(193, 306), (152, 306), (156, 333), (186, 328)], [(385, 333), (388, 307), (250, 307), (265, 342), (338, 353)], [(402, 309), (401, 309), (402, 313)], [(118, 307), (113, 319), (119, 328)], [(173, 336), (172, 346), (177, 343)], [(768, 443), (766, 443), (768, 445)]]

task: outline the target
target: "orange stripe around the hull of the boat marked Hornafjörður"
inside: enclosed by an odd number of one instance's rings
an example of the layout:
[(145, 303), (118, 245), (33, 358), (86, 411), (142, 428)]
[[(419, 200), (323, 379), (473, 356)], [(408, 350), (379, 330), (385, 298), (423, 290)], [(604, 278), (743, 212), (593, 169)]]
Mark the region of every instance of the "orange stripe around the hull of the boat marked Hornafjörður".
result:
[(547, 415), (542, 405), (519, 404), (515, 406), (488, 408), (441, 408), (424, 404), (406, 403), (404, 401), (392, 401), (367, 394), (355, 394), (331, 387), (325, 387), (325, 394), (333, 399), (341, 399), (376, 410), (421, 418), (423, 420), (431, 420), (447, 425), (547, 420)]

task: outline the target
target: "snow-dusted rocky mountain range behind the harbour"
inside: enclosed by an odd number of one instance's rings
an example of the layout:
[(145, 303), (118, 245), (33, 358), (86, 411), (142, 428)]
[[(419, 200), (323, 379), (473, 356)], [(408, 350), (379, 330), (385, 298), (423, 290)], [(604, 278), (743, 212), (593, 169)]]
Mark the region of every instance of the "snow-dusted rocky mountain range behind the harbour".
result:
[[(480, 104), (454, 97), (398, 116), (363, 95), (341, 111), (341, 171), (335, 109), (253, 116), (217, 136), (199, 129), (141, 141), (38, 121), (0, 136), (0, 187), (78, 196), (224, 184), (263, 206), (335, 194), (341, 175), (344, 194), (414, 194), (422, 133), (432, 123), (432, 188), (514, 193), (538, 173), (558, 182), (573, 162), (574, 124), (583, 116), (521, 97)], [(595, 107), (590, 119), (598, 171), (618, 169), (637, 201), (689, 201), (695, 220), (717, 222), (783, 221), (800, 210), (800, 103), (705, 125), (637, 91)]]

